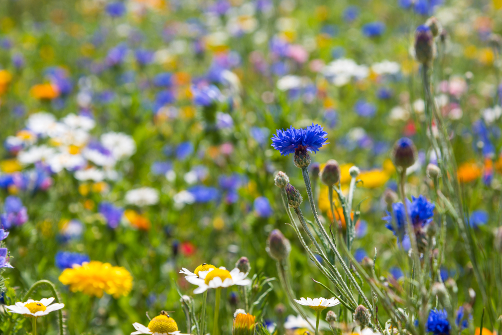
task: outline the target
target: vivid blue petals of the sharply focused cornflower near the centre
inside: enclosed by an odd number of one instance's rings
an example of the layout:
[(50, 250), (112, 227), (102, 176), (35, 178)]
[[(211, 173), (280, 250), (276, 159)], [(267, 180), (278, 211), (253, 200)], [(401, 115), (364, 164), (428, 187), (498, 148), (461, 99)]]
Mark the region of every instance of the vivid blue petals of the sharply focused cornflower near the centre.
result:
[(277, 130), (277, 135), (272, 137), (272, 146), (279, 150), (281, 155), (295, 152), (299, 146), (308, 151), (317, 152), (326, 142), (328, 133), (319, 125), (308, 126), (305, 129), (295, 129), (293, 126), (286, 130)]

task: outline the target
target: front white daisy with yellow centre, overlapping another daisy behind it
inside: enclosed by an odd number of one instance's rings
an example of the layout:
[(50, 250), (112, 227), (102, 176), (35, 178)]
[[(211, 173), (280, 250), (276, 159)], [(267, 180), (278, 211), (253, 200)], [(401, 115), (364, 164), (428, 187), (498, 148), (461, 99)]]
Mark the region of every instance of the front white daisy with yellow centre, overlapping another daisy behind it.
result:
[(237, 268), (232, 271), (228, 271), (225, 268), (219, 268), (200, 271), (198, 278), (187, 276), (185, 279), (189, 283), (199, 286), (193, 291), (193, 293), (199, 294), (205, 292), (209, 288), (249, 285), (251, 281), (245, 279), (246, 277), (247, 273), (240, 272)]

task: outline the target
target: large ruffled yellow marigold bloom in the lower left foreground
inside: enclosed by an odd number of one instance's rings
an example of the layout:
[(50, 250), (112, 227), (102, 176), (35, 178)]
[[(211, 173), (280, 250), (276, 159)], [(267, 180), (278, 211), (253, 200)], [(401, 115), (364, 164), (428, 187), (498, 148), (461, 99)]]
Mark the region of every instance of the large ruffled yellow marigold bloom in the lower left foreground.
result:
[(73, 269), (65, 269), (59, 281), (70, 285), (72, 292), (83, 292), (98, 298), (103, 296), (103, 292), (118, 298), (128, 295), (133, 288), (133, 277), (126, 268), (99, 261), (84, 262), (74, 265)]

